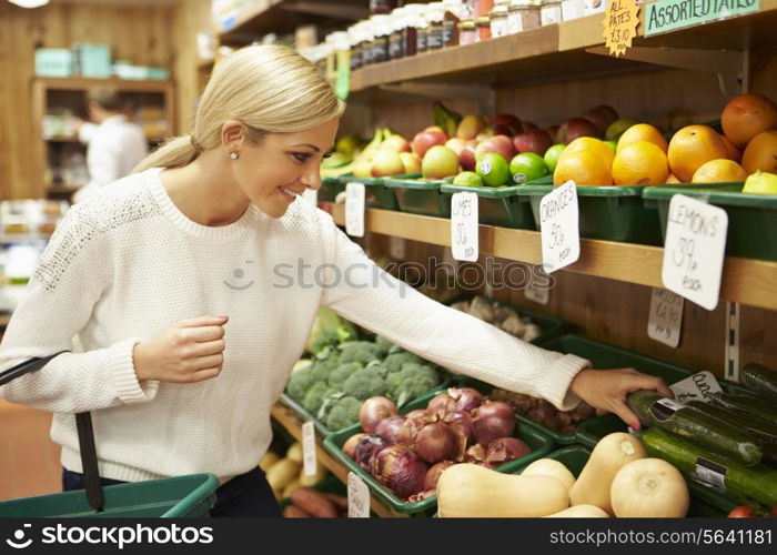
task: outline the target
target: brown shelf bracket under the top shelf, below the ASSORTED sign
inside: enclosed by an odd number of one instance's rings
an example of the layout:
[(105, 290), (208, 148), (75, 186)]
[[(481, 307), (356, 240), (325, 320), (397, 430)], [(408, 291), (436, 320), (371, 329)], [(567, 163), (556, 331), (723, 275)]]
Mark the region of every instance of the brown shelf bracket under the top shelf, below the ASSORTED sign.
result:
[[(586, 52), (610, 56), (605, 47), (587, 48)], [(731, 98), (750, 88), (749, 50), (706, 50), (673, 47), (632, 47), (623, 57), (637, 62), (666, 65), (690, 71), (716, 73), (720, 94)]]

